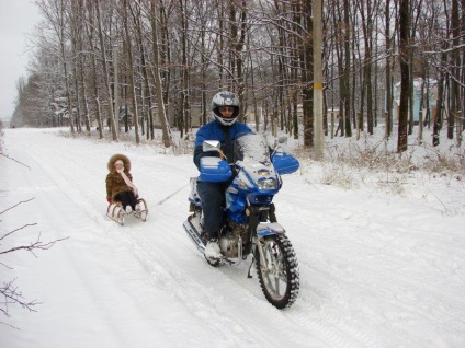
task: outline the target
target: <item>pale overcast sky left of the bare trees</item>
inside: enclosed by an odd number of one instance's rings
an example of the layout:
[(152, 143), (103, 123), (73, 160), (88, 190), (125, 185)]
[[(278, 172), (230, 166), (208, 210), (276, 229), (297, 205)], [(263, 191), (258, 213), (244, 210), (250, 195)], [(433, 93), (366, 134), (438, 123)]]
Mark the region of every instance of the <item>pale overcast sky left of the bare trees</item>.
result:
[(16, 82), (26, 77), (29, 62), (25, 35), (41, 20), (30, 0), (0, 0), (0, 118), (10, 119), (14, 112)]

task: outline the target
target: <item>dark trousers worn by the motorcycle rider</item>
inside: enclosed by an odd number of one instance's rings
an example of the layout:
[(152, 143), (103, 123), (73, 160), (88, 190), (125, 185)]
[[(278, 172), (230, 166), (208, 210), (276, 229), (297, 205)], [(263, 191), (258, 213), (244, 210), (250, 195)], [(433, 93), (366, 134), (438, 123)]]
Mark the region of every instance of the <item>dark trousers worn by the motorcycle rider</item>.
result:
[(204, 231), (208, 239), (217, 239), (225, 207), (225, 183), (197, 182), (197, 194), (202, 200)]

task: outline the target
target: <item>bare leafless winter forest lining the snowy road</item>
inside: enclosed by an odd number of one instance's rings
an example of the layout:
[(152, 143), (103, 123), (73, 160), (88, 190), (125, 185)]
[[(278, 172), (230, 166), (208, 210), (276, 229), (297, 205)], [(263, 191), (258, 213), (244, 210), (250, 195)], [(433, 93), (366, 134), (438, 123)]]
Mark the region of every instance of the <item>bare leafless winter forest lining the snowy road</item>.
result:
[(208, 121), (212, 96), (230, 90), (240, 120), (304, 147), (320, 131), (383, 131), (402, 152), (413, 127), (432, 129), (432, 146), (440, 132), (462, 141), (465, 0), (34, 2), (42, 21), (14, 127), (113, 140), (132, 130), (136, 143), (161, 129), (170, 147), (173, 131)]

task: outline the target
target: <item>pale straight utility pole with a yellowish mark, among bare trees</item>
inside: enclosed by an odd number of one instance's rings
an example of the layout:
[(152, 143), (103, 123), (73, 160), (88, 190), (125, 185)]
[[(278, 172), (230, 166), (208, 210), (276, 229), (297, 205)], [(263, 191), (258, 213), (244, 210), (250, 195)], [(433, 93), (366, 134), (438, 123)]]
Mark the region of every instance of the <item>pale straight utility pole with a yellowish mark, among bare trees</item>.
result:
[(321, 63), (321, 12), (322, 0), (313, 0), (314, 23), (314, 130), (315, 159), (322, 160), (322, 63)]

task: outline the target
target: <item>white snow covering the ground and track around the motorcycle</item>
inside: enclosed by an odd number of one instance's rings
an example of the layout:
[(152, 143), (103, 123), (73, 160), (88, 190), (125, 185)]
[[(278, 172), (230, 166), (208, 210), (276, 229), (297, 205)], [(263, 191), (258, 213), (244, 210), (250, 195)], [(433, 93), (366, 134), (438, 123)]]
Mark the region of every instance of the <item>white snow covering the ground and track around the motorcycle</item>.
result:
[[(254, 267), (247, 277), (250, 257), (214, 268), (184, 232), (189, 178), (197, 175), (190, 151), (52, 129), (4, 129), (3, 141), (0, 237), (31, 225), (1, 240), (0, 251), (38, 235), (66, 240), (37, 257), (0, 255), (10, 267), (0, 267), (0, 279), (15, 279), (25, 299), (42, 303), (36, 312), (10, 305), (10, 318), (0, 312), (19, 328), (0, 324), (0, 347), (465, 347), (463, 173), (341, 171), (300, 159), (273, 199), (300, 285), (280, 311)], [(438, 151), (453, 149), (441, 141)], [(409, 149), (412, 158), (429, 151)], [(146, 222), (128, 217), (122, 227), (106, 217), (114, 153), (132, 161)]]

